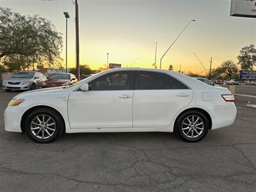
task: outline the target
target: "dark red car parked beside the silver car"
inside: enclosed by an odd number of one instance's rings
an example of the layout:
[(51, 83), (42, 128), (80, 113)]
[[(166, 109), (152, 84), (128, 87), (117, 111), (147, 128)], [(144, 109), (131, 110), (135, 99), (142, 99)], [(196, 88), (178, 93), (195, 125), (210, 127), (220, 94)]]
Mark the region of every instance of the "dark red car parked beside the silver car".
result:
[(56, 73), (52, 74), (47, 81), (43, 83), (43, 88), (55, 87), (55, 86), (66, 86), (77, 82), (76, 76), (73, 74)]

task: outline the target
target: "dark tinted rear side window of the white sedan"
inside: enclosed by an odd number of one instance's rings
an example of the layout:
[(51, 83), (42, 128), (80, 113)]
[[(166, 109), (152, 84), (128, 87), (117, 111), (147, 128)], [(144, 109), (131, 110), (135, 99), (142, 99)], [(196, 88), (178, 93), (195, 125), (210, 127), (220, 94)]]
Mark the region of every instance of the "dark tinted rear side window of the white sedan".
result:
[(182, 90), (188, 86), (168, 74), (140, 71), (136, 77), (136, 90)]

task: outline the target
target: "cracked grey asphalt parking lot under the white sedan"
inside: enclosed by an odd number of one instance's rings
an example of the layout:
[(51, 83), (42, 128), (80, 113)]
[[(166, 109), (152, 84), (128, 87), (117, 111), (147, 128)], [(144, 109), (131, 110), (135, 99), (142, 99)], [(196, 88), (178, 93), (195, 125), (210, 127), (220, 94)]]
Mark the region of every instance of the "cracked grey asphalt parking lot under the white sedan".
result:
[[(256, 109), (198, 143), (164, 132), (64, 134), (38, 144), (4, 131), (19, 92), (0, 90), (0, 191), (256, 191)], [(13, 119), (15, 120), (15, 119)]]

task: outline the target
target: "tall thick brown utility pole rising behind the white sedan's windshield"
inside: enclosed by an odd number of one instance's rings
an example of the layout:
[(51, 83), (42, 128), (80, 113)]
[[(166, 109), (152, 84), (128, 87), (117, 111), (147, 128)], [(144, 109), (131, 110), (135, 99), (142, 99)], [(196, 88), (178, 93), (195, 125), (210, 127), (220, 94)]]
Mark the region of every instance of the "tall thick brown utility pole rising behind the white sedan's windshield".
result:
[(80, 81), (80, 68), (79, 68), (79, 10), (78, 0), (75, 0), (76, 7), (76, 77)]

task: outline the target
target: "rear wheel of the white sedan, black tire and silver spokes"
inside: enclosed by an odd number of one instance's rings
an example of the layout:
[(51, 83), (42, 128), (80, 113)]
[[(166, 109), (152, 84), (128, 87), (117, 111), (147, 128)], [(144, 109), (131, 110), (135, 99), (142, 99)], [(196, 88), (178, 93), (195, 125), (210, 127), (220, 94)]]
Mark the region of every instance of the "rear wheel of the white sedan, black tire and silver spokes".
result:
[(175, 133), (182, 138), (182, 140), (188, 142), (202, 140), (209, 130), (209, 120), (207, 117), (204, 113), (194, 110), (186, 111), (180, 115), (175, 125)]

